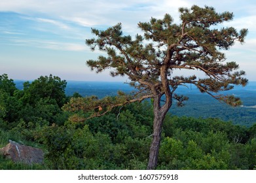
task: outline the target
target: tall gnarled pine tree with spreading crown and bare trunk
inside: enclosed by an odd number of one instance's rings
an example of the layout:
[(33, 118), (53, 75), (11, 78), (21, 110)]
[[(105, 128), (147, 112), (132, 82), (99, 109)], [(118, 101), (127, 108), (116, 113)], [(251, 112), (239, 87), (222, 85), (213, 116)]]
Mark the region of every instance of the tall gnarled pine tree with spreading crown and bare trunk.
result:
[[(130, 98), (121, 93), (119, 98), (105, 99), (104, 102), (90, 98), (94, 102), (87, 102), (88, 105), (84, 104), (84, 108), (101, 107), (102, 110), (92, 116), (100, 116), (111, 108), (126, 103), (153, 99), (155, 119), (147, 169), (156, 168), (166, 112), (174, 100), (182, 106), (188, 99), (175, 93), (178, 86), (193, 84), (200, 92), (208, 93), (229, 105), (238, 106), (241, 105), (239, 98), (220, 95), (218, 92), (231, 90), (234, 85), (247, 84), (247, 79), (243, 77), (245, 72), (236, 71), (238, 64), (234, 61), (225, 62), (225, 54), (221, 52), (229, 50), (236, 41), (243, 43), (247, 34), (247, 29), (238, 32), (234, 27), (217, 26), (232, 20), (233, 14), (217, 13), (213, 7), (201, 8), (196, 5), (190, 9), (179, 8), (179, 13), (180, 24), (175, 24), (170, 14), (166, 14), (162, 20), (151, 18), (150, 22), (139, 22), (138, 26), (144, 35), (136, 35), (134, 39), (122, 33), (121, 24), (105, 31), (92, 29), (97, 38), (86, 39), (86, 44), (92, 51), (98, 47), (107, 53), (107, 56), (100, 56), (97, 60), (88, 60), (88, 67), (97, 73), (112, 69), (112, 76), (126, 75), (131, 80), (130, 84), (138, 91)], [(198, 70), (206, 76), (176, 76), (175, 70)], [(86, 99), (84, 103), (85, 101)], [(104, 108), (102, 103), (107, 103), (107, 107)]]

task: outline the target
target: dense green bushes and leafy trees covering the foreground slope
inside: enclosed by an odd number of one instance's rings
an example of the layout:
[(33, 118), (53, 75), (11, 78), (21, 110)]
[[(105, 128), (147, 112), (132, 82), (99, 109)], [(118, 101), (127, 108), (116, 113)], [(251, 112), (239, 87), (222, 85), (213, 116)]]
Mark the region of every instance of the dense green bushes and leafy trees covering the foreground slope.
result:
[[(43, 92), (42, 87), (48, 90)], [(0, 147), (11, 139), (45, 151), (43, 165), (13, 163), (0, 156), (0, 169), (147, 168), (154, 118), (150, 102), (74, 122), (86, 114), (62, 110), (61, 104), (69, 99), (65, 81), (56, 76), (26, 82), (24, 90), (17, 90), (7, 75), (0, 77)], [(157, 169), (255, 169), (255, 165), (256, 124), (246, 128), (217, 118), (166, 116)]]

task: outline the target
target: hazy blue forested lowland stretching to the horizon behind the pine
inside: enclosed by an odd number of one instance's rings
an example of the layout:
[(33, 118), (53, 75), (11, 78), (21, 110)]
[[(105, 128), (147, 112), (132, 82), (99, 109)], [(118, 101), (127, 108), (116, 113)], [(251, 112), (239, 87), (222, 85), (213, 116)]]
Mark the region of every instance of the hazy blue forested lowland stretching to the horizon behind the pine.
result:
[[(24, 80), (15, 80), (16, 87), (23, 89)], [(78, 92), (82, 96), (117, 95), (117, 91), (130, 93), (134, 88), (122, 82), (84, 82), (67, 81), (66, 95), (73, 95)], [(192, 116), (196, 118), (221, 118), (225, 121), (232, 121), (233, 124), (245, 125), (247, 127), (256, 123), (256, 82), (249, 82), (246, 87), (236, 86), (225, 94), (236, 95), (243, 101), (242, 107), (229, 107), (219, 103), (206, 93), (200, 93), (195, 86), (187, 85), (177, 89), (177, 93), (187, 95), (189, 101), (185, 107), (176, 107), (175, 103), (170, 112), (177, 116)]]

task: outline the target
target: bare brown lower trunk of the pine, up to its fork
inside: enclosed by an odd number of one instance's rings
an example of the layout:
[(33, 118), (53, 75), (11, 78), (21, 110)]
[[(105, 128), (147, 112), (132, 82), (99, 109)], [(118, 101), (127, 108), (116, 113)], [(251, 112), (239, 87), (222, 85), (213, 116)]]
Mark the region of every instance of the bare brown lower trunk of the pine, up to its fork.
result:
[[(155, 99), (156, 100), (156, 99)], [(149, 150), (149, 163), (147, 165), (148, 170), (156, 168), (158, 160), (158, 152), (160, 148), (162, 124), (166, 113), (170, 109), (172, 102), (167, 102), (164, 106), (160, 107), (160, 99), (154, 101), (154, 126), (153, 126), (153, 142)]]

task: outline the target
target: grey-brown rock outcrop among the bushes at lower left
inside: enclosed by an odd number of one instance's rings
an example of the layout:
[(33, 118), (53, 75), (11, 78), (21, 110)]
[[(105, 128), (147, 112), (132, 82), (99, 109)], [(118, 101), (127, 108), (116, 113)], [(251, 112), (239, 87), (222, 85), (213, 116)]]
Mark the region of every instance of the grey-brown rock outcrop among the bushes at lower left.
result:
[(10, 158), (15, 162), (23, 162), (27, 164), (43, 163), (43, 150), (25, 146), (18, 142), (10, 141), (7, 146), (0, 148), (0, 154), (6, 158)]

